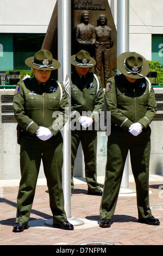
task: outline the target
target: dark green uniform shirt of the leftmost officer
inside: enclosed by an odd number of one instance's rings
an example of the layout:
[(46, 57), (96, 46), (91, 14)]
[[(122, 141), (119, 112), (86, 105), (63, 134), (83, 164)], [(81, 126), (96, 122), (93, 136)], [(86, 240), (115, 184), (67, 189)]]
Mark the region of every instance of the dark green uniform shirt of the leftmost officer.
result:
[(65, 107), (68, 107), (67, 96), (58, 81), (48, 80), (43, 86), (35, 78), (27, 78), (17, 84), (15, 118), (31, 135), (44, 126), (55, 136), (66, 122)]

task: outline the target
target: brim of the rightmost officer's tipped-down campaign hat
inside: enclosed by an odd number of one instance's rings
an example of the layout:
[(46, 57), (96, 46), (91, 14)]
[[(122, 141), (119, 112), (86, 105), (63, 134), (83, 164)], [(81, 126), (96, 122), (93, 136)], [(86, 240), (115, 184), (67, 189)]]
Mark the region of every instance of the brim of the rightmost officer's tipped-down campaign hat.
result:
[(140, 71), (139, 74), (142, 75), (142, 76), (134, 75), (134, 74), (127, 74), (128, 70), (125, 68), (123, 63), (124, 63), (124, 59), (131, 56), (131, 53), (132, 52), (124, 52), (120, 56), (118, 56), (118, 58), (117, 58), (117, 68), (118, 68), (118, 70), (120, 70), (120, 72), (124, 76), (128, 76), (130, 78), (140, 79), (140, 78), (143, 78), (143, 77), (147, 76), (148, 73), (149, 73), (149, 64), (148, 64), (147, 60), (141, 54), (139, 54), (139, 56), (143, 59), (143, 64), (142, 64), (142, 70)]

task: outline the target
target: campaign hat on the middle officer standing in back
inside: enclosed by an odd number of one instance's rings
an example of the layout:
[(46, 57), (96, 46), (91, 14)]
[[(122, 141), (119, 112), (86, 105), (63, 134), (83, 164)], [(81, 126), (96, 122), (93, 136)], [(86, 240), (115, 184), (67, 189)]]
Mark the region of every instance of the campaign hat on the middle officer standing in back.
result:
[(92, 66), (96, 65), (96, 60), (90, 57), (89, 52), (81, 50), (71, 56), (71, 64), (79, 66), (79, 68), (92, 68)]

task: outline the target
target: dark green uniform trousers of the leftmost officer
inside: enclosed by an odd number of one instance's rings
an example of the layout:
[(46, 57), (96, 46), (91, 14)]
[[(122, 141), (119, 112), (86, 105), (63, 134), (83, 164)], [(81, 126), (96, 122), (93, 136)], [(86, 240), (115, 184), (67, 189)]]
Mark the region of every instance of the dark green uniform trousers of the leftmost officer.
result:
[(58, 136), (47, 141), (41, 141), (39, 138), (32, 136), (24, 136), (21, 139), (21, 181), (17, 196), (16, 222), (28, 223), (41, 159), (47, 179), (53, 223), (67, 220), (61, 177), (62, 137), (59, 133)]

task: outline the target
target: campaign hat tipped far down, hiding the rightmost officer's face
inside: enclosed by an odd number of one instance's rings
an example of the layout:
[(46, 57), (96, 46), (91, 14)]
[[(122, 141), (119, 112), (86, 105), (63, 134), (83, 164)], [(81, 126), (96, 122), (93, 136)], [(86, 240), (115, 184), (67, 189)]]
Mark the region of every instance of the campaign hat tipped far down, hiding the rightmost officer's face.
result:
[(121, 73), (131, 78), (142, 78), (148, 75), (147, 60), (139, 53), (124, 52), (117, 58), (117, 67)]

